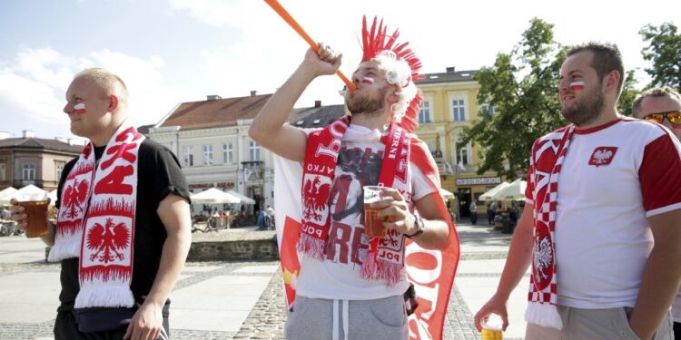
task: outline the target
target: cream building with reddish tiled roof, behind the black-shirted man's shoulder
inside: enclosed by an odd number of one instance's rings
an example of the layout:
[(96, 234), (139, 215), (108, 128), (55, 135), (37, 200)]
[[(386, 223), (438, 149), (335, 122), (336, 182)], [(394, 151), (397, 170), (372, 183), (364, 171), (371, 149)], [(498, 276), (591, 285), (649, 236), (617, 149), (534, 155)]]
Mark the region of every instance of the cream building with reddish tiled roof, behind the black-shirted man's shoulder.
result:
[[(222, 99), (209, 95), (205, 101), (182, 102), (162, 121), (141, 131), (174, 152), (192, 192), (209, 188), (234, 190), (256, 201), (254, 206), (244, 206), (249, 215), (256, 209), (274, 206), (272, 154), (248, 136), (252, 119), (270, 97), (271, 94), (253, 91), (246, 97)], [(342, 114), (343, 105), (314, 104), (294, 109), (291, 125), (325, 126)], [(209, 207), (193, 209), (193, 213), (199, 213)]]

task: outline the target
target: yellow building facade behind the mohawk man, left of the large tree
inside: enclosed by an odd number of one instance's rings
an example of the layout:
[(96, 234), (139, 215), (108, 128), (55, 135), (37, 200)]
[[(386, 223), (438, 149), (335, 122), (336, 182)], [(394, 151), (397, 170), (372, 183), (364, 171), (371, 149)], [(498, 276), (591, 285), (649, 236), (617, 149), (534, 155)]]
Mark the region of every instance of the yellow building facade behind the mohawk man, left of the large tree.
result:
[(455, 71), (448, 67), (445, 73), (428, 73), (416, 83), (423, 93), (420, 104), (419, 139), (425, 141), (438, 163), (442, 188), (455, 194), (448, 199), (451, 209), (457, 215), (470, 214), (470, 202), (478, 203), (478, 211), (485, 208), (478, 198), (485, 191), (501, 182), (496, 172), (477, 174), (479, 152), (476, 145), (457, 147), (463, 128), (479, 119), (481, 110), (493, 110), (488, 105), (478, 104), (479, 83), (474, 71)]

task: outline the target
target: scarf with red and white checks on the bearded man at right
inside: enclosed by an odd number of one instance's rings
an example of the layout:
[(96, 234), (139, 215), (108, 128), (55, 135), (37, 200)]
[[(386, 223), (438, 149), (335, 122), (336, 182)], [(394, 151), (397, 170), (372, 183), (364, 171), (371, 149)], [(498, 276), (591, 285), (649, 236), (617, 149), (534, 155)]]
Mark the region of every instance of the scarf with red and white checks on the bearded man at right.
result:
[(558, 175), (575, 126), (541, 138), (533, 147), (530, 180), (534, 183), (532, 276), (525, 319), (535, 325), (563, 328), (558, 314), (556, 209)]

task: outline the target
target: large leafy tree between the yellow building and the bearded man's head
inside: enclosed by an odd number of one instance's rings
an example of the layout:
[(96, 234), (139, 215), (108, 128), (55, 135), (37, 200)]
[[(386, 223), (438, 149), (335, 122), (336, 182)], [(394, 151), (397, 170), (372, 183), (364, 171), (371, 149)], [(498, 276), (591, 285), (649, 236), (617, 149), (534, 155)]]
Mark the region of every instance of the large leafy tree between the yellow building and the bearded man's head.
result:
[(568, 124), (558, 102), (558, 74), (566, 52), (553, 40), (553, 25), (533, 18), (510, 53), (498, 53), (492, 67), (476, 73), (478, 102), (493, 105), (494, 114), (480, 112), (480, 120), (464, 128), (458, 145), (473, 141), (480, 146), (479, 173), (494, 170), (515, 179), (528, 170), (532, 143)]

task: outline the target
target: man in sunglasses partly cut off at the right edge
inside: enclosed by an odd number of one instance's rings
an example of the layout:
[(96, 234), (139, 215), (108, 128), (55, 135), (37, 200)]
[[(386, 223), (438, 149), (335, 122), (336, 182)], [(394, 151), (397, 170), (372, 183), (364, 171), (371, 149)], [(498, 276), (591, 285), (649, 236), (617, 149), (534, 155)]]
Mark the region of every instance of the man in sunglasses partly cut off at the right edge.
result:
[[(653, 88), (640, 93), (632, 105), (632, 113), (636, 118), (665, 125), (681, 140), (681, 95), (671, 87)], [(676, 153), (669, 155), (675, 156)], [(681, 339), (681, 290), (672, 305), (672, 317), (674, 338)]]

